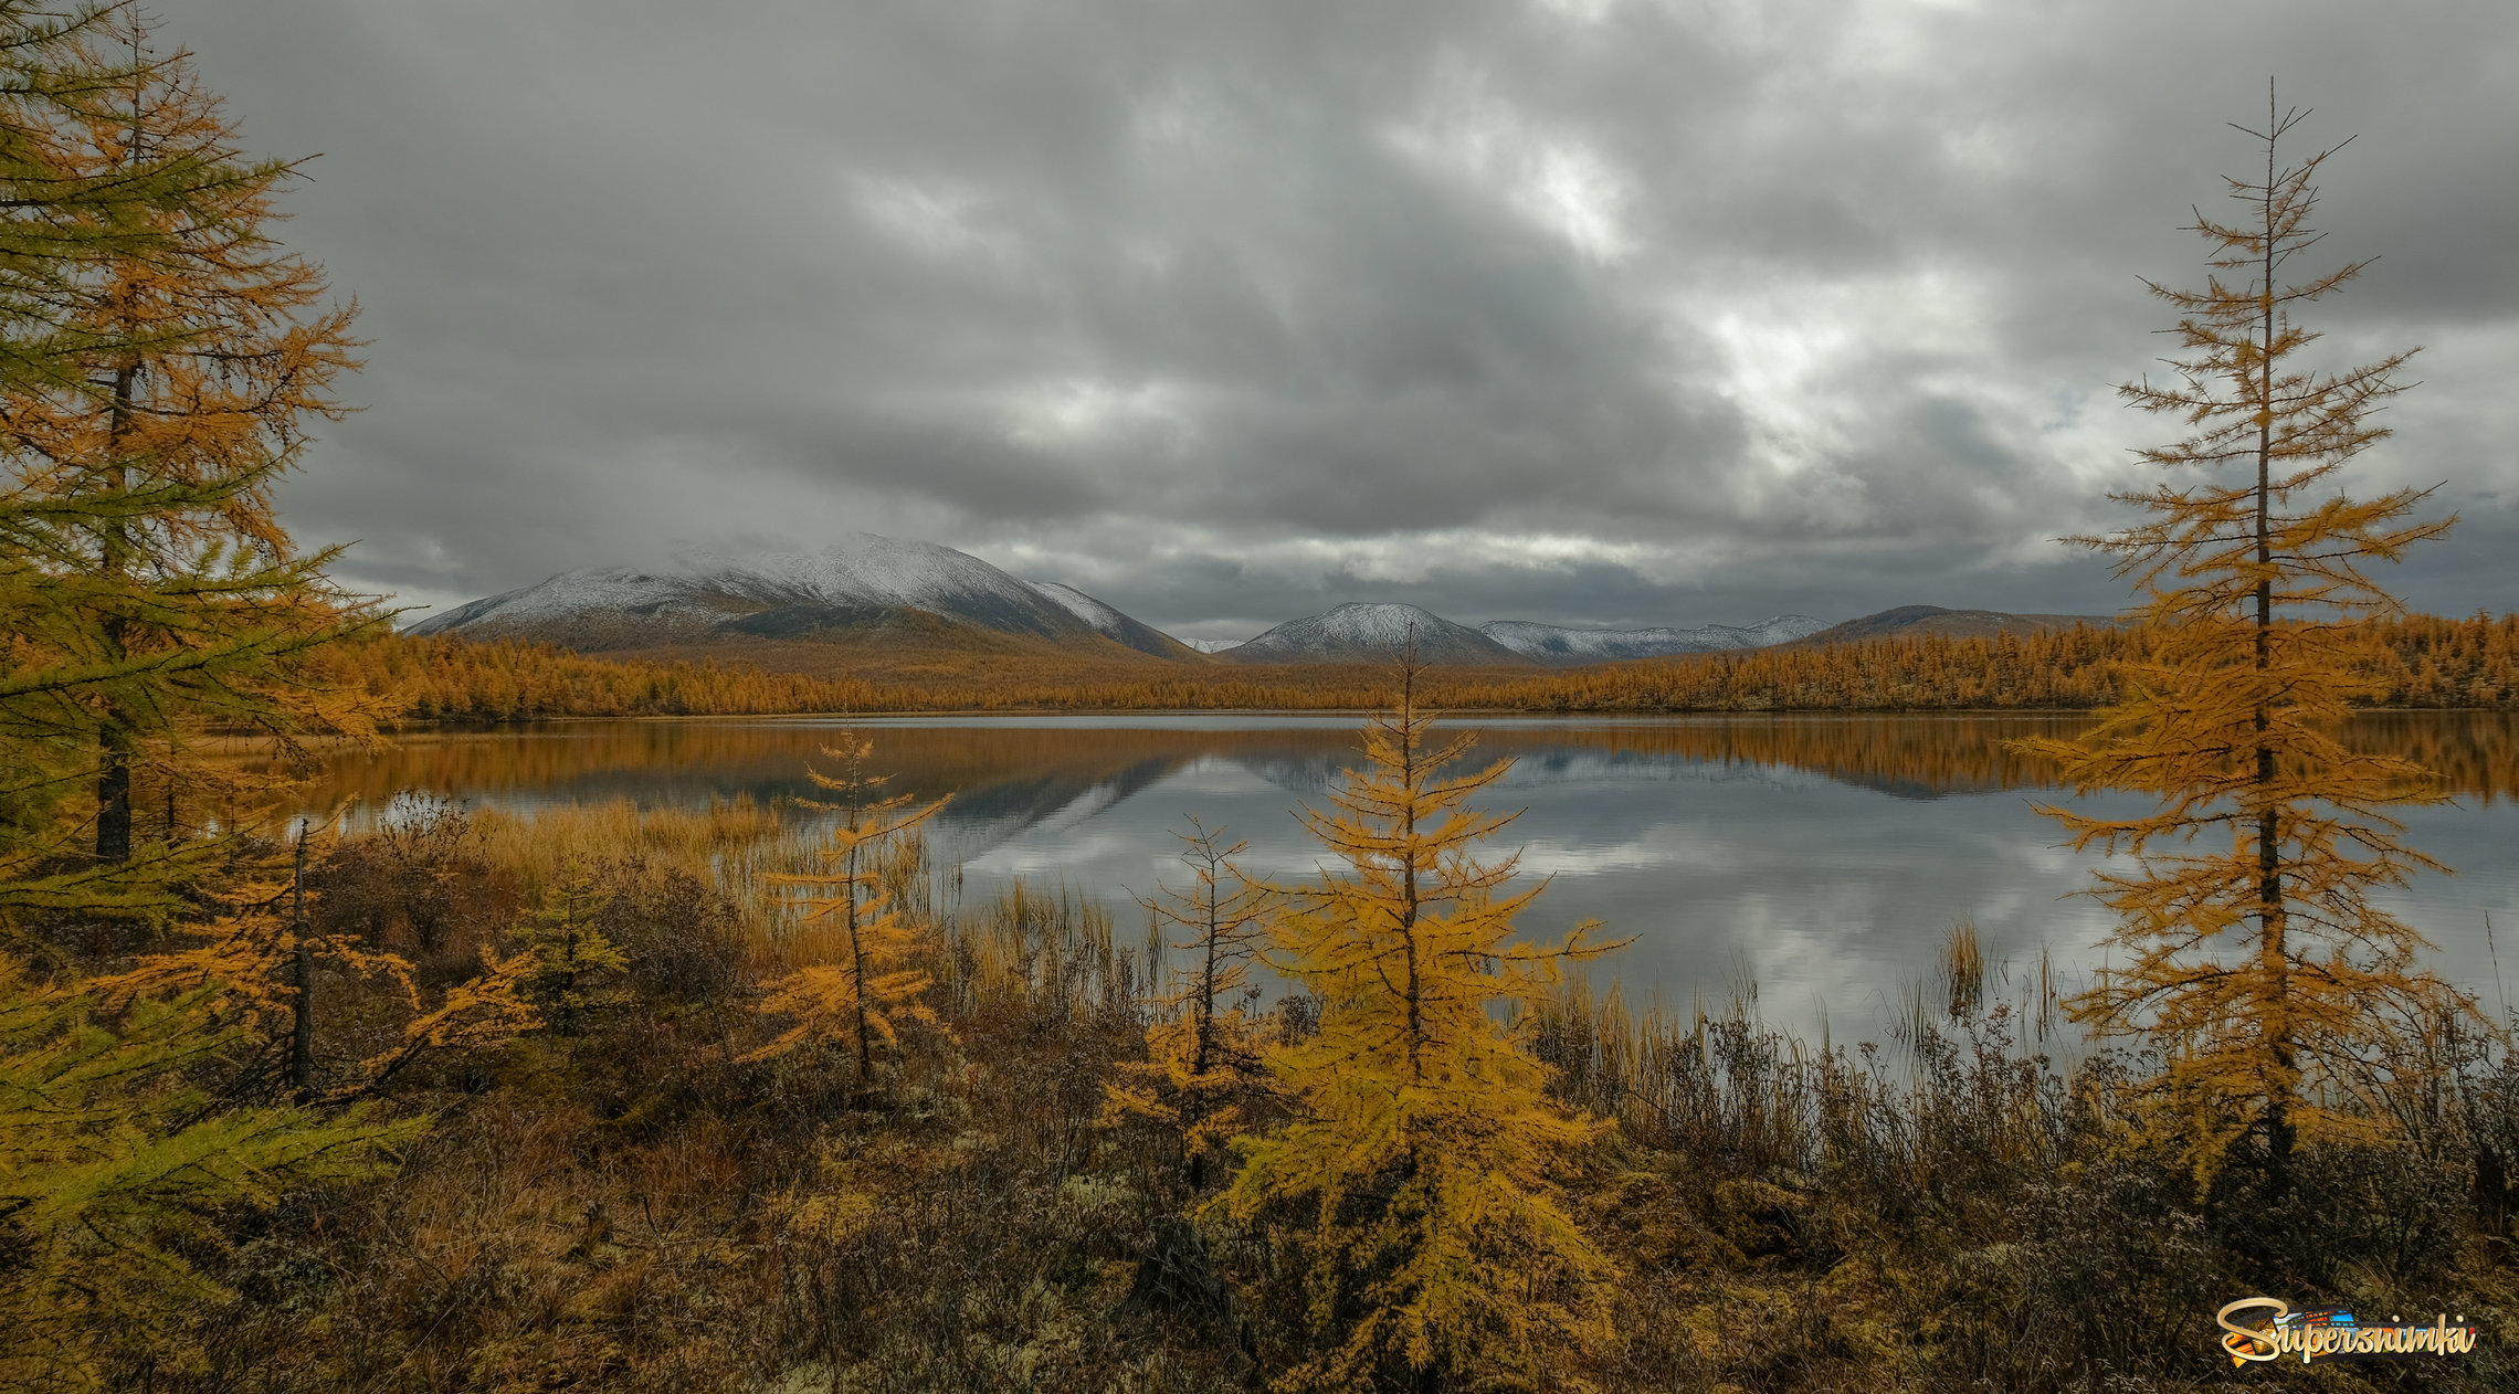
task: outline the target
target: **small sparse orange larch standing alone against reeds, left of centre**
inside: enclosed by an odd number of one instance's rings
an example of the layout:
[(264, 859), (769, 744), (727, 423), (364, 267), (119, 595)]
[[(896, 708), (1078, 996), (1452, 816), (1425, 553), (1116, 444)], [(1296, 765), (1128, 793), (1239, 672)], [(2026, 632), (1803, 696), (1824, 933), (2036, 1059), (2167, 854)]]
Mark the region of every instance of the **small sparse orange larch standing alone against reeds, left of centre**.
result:
[(884, 853), (945, 808), (945, 800), (912, 808), (909, 795), (879, 798), (889, 775), (867, 772), (872, 752), (872, 740), (841, 730), (836, 745), (824, 747), (839, 772), (806, 770), (836, 795), (814, 808), (839, 818), (821, 848), (819, 871), (771, 876), (768, 883), (791, 891), (791, 906), (809, 931), (834, 939), (809, 949), (826, 951), (824, 961), (768, 984), (761, 1012), (788, 1017), (791, 1027), (751, 1054), (766, 1059), (806, 1042), (846, 1044), (856, 1057), (859, 1085), (874, 1074), (877, 1042), (897, 1044), (904, 1024), (937, 1019), (922, 1001), (935, 979), (917, 964), (927, 949), (927, 926), (907, 916), (884, 888)]

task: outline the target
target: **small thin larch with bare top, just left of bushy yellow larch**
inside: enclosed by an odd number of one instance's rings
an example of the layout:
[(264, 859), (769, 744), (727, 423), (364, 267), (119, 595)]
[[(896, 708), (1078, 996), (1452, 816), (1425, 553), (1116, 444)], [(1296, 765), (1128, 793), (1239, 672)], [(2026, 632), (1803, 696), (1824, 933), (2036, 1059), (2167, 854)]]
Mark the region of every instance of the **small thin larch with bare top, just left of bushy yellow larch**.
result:
[(1106, 1120), (1149, 1117), (1176, 1127), (1189, 1185), (1207, 1185), (1207, 1163), (1247, 1127), (1249, 1095), (1260, 1090), (1260, 1039), (1252, 1014), (1260, 996), (1252, 984), (1267, 916), (1277, 888), (1252, 881), (1234, 863), (1247, 840), (1224, 843), (1222, 828), (1189, 815), (1181, 840), (1181, 866), (1191, 883), (1139, 901), (1151, 916), (1151, 954), (1179, 954), (1171, 991), (1154, 1001), (1146, 1027), (1146, 1059), (1121, 1064), (1121, 1079), (1108, 1085)]

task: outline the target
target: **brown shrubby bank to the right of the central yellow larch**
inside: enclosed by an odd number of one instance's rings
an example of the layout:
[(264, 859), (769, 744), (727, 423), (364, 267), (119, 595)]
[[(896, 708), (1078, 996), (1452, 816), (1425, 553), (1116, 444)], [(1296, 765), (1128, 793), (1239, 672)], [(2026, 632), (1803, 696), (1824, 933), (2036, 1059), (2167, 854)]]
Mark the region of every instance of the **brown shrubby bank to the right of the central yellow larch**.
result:
[[(1627, 1261), (1615, 1386), (2202, 1389), (2212, 1313), (2249, 1293), (2368, 1313), (2519, 1313), (2506, 1145), (2514, 1057), (2459, 1047), (2370, 1107), (2426, 1117), (2391, 1145), (2297, 1152), (2302, 1203), (2277, 1210), (2244, 1168), (2199, 1195), (2181, 1152), (2136, 1125), (2159, 1064), (2023, 1049), (2035, 1001), (1899, 1027), (1902, 1049), (1821, 1049), (1756, 1019), (1630, 1014), (1569, 986), (1534, 1044), (1559, 1090), (1620, 1135), (1582, 1188)], [(2227, 1361), (2222, 1361), (2227, 1371)], [(2391, 1366), (2328, 1381), (2388, 1386)], [(2494, 1389), (2506, 1356), (2421, 1371)], [(2280, 1376), (2277, 1376), (2280, 1379)]]

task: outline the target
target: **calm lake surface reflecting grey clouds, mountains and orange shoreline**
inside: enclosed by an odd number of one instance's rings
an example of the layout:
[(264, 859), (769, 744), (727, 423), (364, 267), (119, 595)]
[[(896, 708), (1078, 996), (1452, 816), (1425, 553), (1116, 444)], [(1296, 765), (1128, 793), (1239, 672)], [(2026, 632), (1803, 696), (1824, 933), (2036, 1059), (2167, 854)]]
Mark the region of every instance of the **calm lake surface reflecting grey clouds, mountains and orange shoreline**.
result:
[[(2035, 974), (2040, 951), (2066, 991), (2101, 961), (2106, 911), (2073, 891), (2101, 866), (2063, 845), (2038, 803), (2063, 798), (2045, 770), (2008, 755), (2023, 735), (2066, 735), (2081, 717), (1484, 717), (1476, 757), (1511, 760), (1489, 808), (1524, 813), (1499, 838), (1549, 888), (1532, 934), (1600, 918), (1635, 936), (1592, 969), (1630, 1001), (1708, 1006), (1756, 984), (1758, 1009), (1806, 1034), (1879, 1039), (1935, 951), (1970, 918), (1987, 961)], [(317, 795), (385, 805), (426, 790), (537, 808), (630, 798), (705, 805), (811, 795), (804, 775), (836, 722), (557, 722), (481, 735), (421, 735), (338, 760)], [(1184, 886), (1174, 830), (1197, 813), (1247, 838), (1247, 871), (1300, 881), (1320, 848), (1295, 820), (1358, 762), (1355, 717), (867, 717), (869, 770), (892, 790), (952, 795), (937, 850), (962, 866), (962, 901), (1005, 883), (1066, 883), (1103, 898), (1121, 926), (1131, 896)], [(2408, 712), (2363, 717), (2348, 740), (2443, 770), (2454, 803), (2406, 808), (2408, 840), (2456, 868), (2383, 903), (2436, 946), (2433, 966), (2499, 1014), (2496, 939), (2519, 926), (2519, 717)], [(2134, 813), (2101, 798), (2091, 810)], [(809, 813), (799, 813), (809, 815)], [(2519, 964), (2504, 974), (2519, 989)]]

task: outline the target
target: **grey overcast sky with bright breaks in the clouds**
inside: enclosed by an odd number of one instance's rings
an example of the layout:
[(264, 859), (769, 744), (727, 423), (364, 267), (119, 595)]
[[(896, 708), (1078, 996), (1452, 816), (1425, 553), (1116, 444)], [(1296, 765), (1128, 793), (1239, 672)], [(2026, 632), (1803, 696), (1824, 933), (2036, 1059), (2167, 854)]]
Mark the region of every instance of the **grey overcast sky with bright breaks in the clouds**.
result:
[(169, 0), (365, 410), (285, 516), (451, 604), (861, 528), (1184, 637), (2111, 611), (2116, 403), (2260, 159), (2358, 136), (2355, 488), (2519, 606), (2519, 10), (2398, 3)]

